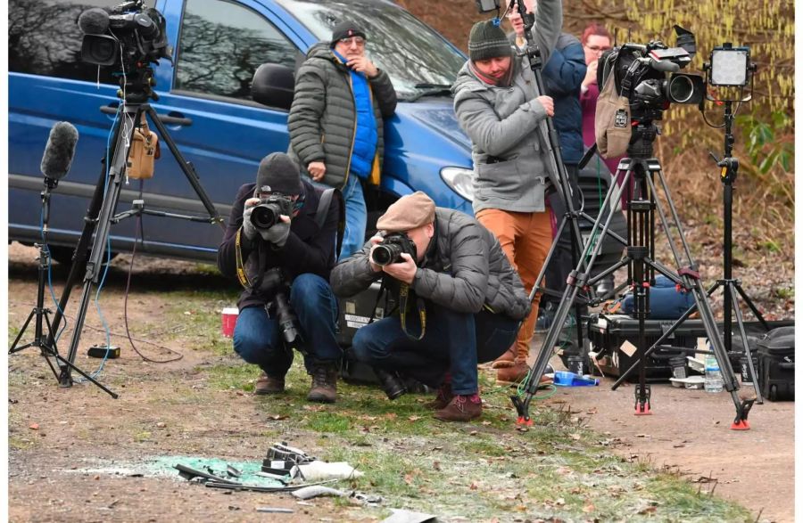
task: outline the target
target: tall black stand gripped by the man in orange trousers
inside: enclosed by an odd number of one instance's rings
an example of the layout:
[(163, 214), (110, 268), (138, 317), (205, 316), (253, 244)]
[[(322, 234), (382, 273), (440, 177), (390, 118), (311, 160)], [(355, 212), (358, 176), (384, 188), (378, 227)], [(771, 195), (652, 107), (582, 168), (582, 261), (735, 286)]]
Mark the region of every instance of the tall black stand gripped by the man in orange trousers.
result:
[[(511, 2), (512, 6), (513, 2)], [(524, 29), (525, 29), (525, 37), (527, 42), (526, 50), (522, 53), (519, 53), (519, 56), (526, 56), (527, 61), (529, 62), (530, 69), (533, 71), (535, 77), (535, 85), (538, 88), (539, 94), (545, 94), (546, 90), (544, 88), (543, 77), (542, 77), (542, 69), (543, 69), (543, 60), (541, 55), (541, 50), (538, 48), (538, 45), (534, 45), (532, 42), (532, 33), (531, 30), (533, 29), (535, 18), (534, 15), (526, 12), (526, 7), (523, 2), (516, 2), (516, 8), (518, 9), (519, 14), (524, 22)], [(548, 296), (553, 296), (556, 298), (560, 298), (563, 294), (554, 289), (549, 289), (546, 285), (543, 285), (543, 279), (546, 275), (547, 267), (550, 265), (552, 257), (555, 256), (555, 251), (558, 249), (559, 241), (561, 236), (563, 235), (564, 229), (568, 226), (570, 227), (569, 233), (571, 236), (571, 253), (572, 253), (572, 264), (578, 265), (578, 268), (582, 267), (583, 269), (591, 270), (593, 265), (593, 261), (590, 261), (586, 264), (586, 258), (580, 257), (580, 252), (583, 250), (583, 236), (580, 233), (580, 225), (579, 221), (581, 218), (588, 221), (588, 223), (592, 224), (595, 222), (594, 218), (589, 216), (588, 214), (584, 213), (581, 209), (575, 208), (575, 196), (579, 197), (579, 187), (576, 184), (572, 184), (572, 180), (569, 178), (567, 173), (566, 165), (563, 163), (563, 155), (560, 151), (560, 140), (558, 131), (555, 129), (555, 125), (552, 122), (552, 118), (546, 118), (546, 127), (547, 132), (543, 136), (543, 142), (546, 143), (547, 147), (550, 149), (550, 161), (551, 161), (551, 172), (557, 173), (558, 179), (552, 180), (552, 185), (555, 190), (558, 192), (559, 197), (564, 202), (564, 208), (566, 209), (566, 213), (563, 217), (560, 218), (560, 223), (558, 225), (557, 232), (555, 233), (555, 239), (552, 241), (550, 250), (547, 252), (546, 259), (544, 259), (543, 265), (541, 267), (541, 271), (538, 273), (538, 276), (535, 279), (535, 283), (533, 285), (533, 289), (530, 291), (529, 301), (530, 303), (533, 302), (535, 295), (538, 292), (542, 292)], [(542, 131), (543, 127), (539, 127), (539, 131)], [(575, 180), (576, 182), (576, 180)], [(601, 207), (600, 208), (600, 217), (603, 214), (603, 210), (608, 209), (608, 213), (612, 213), (608, 207)], [(626, 245), (627, 241), (624, 238), (619, 236), (617, 233), (613, 231), (606, 231), (611, 237), (615, 238), (617, 241), (621, 242), (622, 245)], [(604, 237), (605, 233), (600, 234), (597, 241), (600, 241), (601, 238)], [(592, 235), (592, 238), (594, 236)], [(606, 271), (605, 274), (610, 274), (611, 272)], [(598, 275), (594, 278), (594, 281), (599, 281), (603, 277), (602, 274)], [(583, 296), (579, 297), (575, 301), (575, 324), (578, 325), (576, 329), (577, 335), (577, 347), (583, 347), (583, 330), (579, 328), (579, 325), (582, 324), (582, 315), (585, 306), (588, 305), (595, 305), (598, 303), (598, 300), (595, 297), (594, 291), (592, 286), (588, 288), (588, 293), (584, 294)], [(563, 322), (566, 320), (566, 317), (562, 317), (559, 320), (559, 326), (562, 329)], [(556, 323), (556, 319), (554, 320)], [(557, 339), (556, 339), (557, 341)]]

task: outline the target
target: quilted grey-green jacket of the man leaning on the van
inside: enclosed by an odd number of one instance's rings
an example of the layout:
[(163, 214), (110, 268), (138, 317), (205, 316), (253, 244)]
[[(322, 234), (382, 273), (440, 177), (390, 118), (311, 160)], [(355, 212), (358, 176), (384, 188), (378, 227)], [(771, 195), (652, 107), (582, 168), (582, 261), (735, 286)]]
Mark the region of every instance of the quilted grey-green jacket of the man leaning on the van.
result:
[[(378, 184), (378, 169), (384, 152), (383, 118), (396, 110), (396, 92), (384, 70), (376, 78), (368, 78), (377, 122), (376, 172), (368, 179)], [(307, 59), (295, 75), (295, 92), (287, 128), (293, 157), (307, 173), (312, 161), (327, 166), (323, 183), (342, 189), (349, 173), (354, 144), (357, 114), (354, 109), (352, 80), (349, 69), (339, 61), (327, 43), (310, 47)]]

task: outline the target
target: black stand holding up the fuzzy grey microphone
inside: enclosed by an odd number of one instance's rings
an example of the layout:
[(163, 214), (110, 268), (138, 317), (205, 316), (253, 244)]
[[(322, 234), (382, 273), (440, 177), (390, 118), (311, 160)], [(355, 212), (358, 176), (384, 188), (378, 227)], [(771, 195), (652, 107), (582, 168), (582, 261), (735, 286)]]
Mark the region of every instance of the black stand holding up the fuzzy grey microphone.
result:
[[(102, 388), (112, 397), (116, 398), (117, 395), (114, 394), (111, 390), (103, 387), (103, 385), (99, 383), (97, 380), (89, 376), (86, 372), (80, 370), (78, 366), (72, 363), (72, 361), (64, 359), (62, 355), (59, 354), (58, 348), (55, 345), (54, 331), (56, 331), (58, 327), (54, 327), (54, 325), (50, 323), (50, 309), (45, 307), (45, 287), (47, 286), (46, 282), (47, 269), (50, 266), (50, 253), (47, 250), (47, 228), (48, 228), (48, 222), (50, 221), (50, 196), (51, 192), (55, 189), (58, 183), (59, 183), (58, 180), (46, 177), (45, 189), (41, 193), (42, 243), (34, 244), (34, 246), (37, 247), (37, 249), (39, 249), (39, 256), (37, 258), (38, 259), (37, 305), (33, 307), (33, 309), (30, 311), (30, 314), (28, 315), (28, 319), (25, 320), (25, 323), (22, 324), (20, 333), (17, 334), (17, 337), (14, 339), (11, 348), (8, 349), (8, 354), (12, 355), (28, 347), (39, 347), (41, 355), (45, 356), (45, 361), (47, 362), (47, 365), (50, 367), (50, 370), (53, 372), (53, 375), (57, 380), (59, 379), (59, 374), (56, 372), (55, 365), (51, 361), (51, 358), (53, 358), (60, 367), (68, 368), (70, 370), (78, 372), (81, 376), (91, 381), (92, 383), (95, 383), (95, 385)], [(25, 345), (18, 346), (17, 344), (20, 343), (23, 334), (25, 334), (25, 331), (28, 330), (28, 325), (30, 324), (30, 321), (34, 319), (35, 321), (34, 321), (33, 341), (31, 341), (30, 343), (26, 343)], [(47, 327), (47, 332), (45, 332), (45, 327)], [(45, 334), (47, 334), (47, 336), (45, 336)]]

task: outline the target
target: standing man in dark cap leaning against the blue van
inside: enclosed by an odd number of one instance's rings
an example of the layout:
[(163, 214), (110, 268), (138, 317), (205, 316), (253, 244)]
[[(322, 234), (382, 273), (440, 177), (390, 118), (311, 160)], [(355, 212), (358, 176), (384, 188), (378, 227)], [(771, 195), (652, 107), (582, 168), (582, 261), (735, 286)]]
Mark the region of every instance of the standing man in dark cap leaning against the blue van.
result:
[(366, 33), (342, 21), (329, 42), (310, 47), (295, 76), (287, 128), (290, 156), (319, 184), (343, 192), (346, 228), (340, 257), (365, 242), (362, 184), (379, 184), (385, 118), (396, 109), (390, 77), (365, 55)]

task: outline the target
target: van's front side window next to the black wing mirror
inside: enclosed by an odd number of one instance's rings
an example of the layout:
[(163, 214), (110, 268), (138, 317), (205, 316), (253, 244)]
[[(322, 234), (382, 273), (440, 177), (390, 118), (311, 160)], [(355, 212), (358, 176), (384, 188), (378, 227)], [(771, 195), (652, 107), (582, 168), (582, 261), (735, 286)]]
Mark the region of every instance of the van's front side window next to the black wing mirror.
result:
[(298, 50), (261, 14), (221, 0), (188, 0), (182, 20), (176, 89), (251, 100), (263, 63), (294, 69)]

